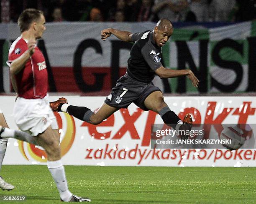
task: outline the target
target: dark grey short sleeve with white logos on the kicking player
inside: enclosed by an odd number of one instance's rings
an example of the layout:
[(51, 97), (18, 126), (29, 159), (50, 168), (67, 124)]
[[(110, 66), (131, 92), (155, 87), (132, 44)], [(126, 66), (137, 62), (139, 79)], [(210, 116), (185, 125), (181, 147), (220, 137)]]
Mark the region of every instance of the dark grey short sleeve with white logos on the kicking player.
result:
[[(154, 50), (155, 53), (152, 53)], [(156, 50), (154, 47), (146, 44), (141, 49), (141, 54), (144, 58), (144, 60), (147, 62), (148, 66), (152, 70), (157, 70), (159, 67), (163, 66), (161, 63), (160, 53), (156, 53)], [(157, 55), (158, 54), (158, 55)]]

